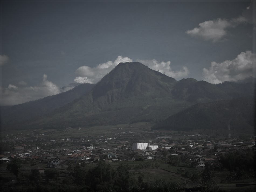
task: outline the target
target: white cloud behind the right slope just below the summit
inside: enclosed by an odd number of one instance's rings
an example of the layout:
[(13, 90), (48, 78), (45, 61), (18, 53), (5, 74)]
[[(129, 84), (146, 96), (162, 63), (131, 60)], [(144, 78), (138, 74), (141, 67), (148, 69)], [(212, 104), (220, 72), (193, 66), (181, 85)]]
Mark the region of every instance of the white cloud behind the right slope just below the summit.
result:
[(189, 74), (189, 70), (187, 67), (182, 67), (181, 70), (179, 71), (173, 71), (171, 69), (171, 61), (161, 61), (158, 62), (156, 60), (137, 60), (138, 62), (141, 62), (144, 65), (147, 65), (149, 68), (155, 70), (155, 71), (159, 71), (167, 76), (170, 76), (172, 78), (184, 78)]

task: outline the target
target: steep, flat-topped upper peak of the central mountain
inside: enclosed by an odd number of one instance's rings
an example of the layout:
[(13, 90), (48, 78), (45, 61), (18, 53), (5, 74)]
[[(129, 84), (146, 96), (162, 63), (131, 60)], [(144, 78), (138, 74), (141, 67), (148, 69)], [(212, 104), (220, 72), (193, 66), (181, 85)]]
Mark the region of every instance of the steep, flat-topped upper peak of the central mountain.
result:
[(169, 86), (176, 82), (174, 78), (154, 71), (140, 62), (124, 62), (119, 63), (97, 83), (93, 89), (93, 98), (101, 97), (107, 92), (115, 92), (114, 95), (118, 97), (134, 92), (145, 94), (162, 89), (170, 92)]

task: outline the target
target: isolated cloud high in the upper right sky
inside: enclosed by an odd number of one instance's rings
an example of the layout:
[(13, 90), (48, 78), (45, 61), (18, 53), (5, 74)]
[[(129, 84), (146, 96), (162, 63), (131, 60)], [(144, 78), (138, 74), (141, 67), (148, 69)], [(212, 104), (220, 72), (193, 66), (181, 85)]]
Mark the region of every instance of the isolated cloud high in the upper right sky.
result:
[(236, 27), (244, 22), (247, 22), (247, 19), (243, 16), (230, 20), (218, 18), (216, 20), (199, 23), (199, 27), (186, 31), (186, 34), (192, 37), (202, 38), (203, 40), (217, 42), (223, 40), (227, 36), (227, 29)]

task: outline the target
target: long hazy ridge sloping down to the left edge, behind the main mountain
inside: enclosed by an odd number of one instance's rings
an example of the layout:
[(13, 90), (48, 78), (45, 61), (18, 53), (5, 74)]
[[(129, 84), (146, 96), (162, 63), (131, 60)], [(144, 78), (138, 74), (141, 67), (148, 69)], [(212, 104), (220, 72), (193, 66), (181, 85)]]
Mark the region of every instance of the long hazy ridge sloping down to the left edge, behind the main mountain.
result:
[(43, 99), (14, 106), (2, 106), (1, 124), (2, 126), (11, 124), (18, 126), (16, 124), (20, 121), (41, 117), (57, 108), (64, 106), (65, 104), (72, 102), (75, 99), (78, 99), (82, 95), (87, 94), (93, 87), (94, 84), (90, 83), (80, 84), (71, 90), (57, 95), (44, 97)]

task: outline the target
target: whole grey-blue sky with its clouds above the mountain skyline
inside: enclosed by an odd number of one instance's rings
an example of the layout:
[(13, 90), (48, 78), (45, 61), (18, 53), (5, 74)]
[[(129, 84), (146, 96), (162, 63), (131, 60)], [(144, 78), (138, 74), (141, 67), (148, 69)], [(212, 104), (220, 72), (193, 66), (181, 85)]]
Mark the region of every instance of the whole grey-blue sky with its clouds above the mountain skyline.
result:
[(0, 105), (96, 83), (119, 62), (139, 61), (176, 80), (255, 77), (255, 4), (1, 1)]

